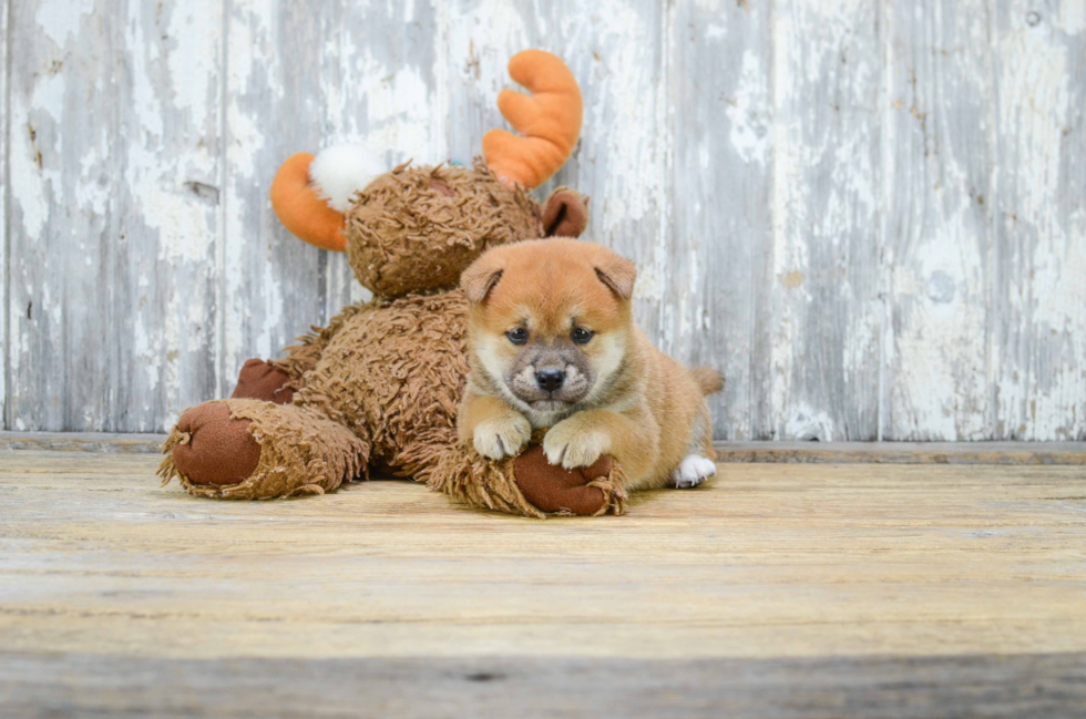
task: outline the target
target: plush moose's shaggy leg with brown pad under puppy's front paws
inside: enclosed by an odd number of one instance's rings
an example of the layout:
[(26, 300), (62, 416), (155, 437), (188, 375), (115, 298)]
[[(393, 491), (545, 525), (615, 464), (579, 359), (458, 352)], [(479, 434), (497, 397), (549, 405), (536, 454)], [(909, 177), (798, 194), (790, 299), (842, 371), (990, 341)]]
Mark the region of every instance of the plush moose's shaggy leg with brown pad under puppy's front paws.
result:
[(546, 517), (598, 516), (626, 510), (626, 475), (609, 456), (588, 468), (564, 470), (546, 461), (533, 438), (520, 456), (492, 462), (474, 449), (455, 445), (428, 477), (431, 489), (472, 506)]

